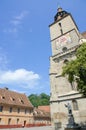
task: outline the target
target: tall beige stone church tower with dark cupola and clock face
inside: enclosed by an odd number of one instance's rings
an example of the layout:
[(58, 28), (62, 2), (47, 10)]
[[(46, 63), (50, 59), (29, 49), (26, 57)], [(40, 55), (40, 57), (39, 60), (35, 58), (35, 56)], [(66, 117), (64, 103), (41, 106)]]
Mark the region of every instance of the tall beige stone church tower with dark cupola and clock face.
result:
[[(49, 70), (51, 119), (52, 124), (57, 124), (60, 128), (67, 124), (67, 103), (70, 103), (74, 110), (76, 122), (80, 122), (81, 95), (76, 89), (76, 83), (70, 84), (67, 78), (62, 76), (62, 67), (66, 62), (76, 58), (76, 48), (82, 36), (72, 15), (61, 7), (58, 8), (54, 22), (49, 28), (52, 48)], [(86, 102), (86, 99), (84, 100)]]

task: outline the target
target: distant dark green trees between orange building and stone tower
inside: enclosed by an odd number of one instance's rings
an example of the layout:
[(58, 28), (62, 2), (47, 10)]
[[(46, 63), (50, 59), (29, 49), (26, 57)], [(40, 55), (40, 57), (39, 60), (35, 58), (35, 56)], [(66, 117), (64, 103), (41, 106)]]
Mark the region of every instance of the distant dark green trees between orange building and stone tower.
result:
[(45, 93), (41, 93), (40, 95), (31, 94), (28, 96), (28, 98), (34, 107), (49, 105), (49, 101), (50, 101), (50, 96)]

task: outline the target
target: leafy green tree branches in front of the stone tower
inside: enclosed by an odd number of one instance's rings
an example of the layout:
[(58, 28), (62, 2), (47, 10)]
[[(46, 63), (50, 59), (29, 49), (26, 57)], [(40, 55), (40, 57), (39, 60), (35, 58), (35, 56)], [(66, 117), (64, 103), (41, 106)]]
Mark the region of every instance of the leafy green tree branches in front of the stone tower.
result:
[(76, 59), (66, 63), (62, 75), (68, 76), (71, 85), (76, 81), (78, 91), (86, 97), (86, 43), (76, 50)]

